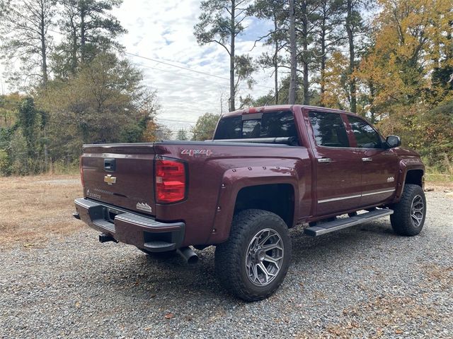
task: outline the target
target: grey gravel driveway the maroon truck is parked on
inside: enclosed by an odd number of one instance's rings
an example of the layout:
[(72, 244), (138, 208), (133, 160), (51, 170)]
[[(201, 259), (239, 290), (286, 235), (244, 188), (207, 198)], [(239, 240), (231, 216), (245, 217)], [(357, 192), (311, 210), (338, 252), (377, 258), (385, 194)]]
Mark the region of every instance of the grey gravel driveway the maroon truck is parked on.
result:
[[(428, 192), (417, 237), (389, 218), (319, 238), (292, 230), (280, 290), (246, 304), (212, 249), (187, 266), (83, 230), (0, 253), (1, 338), (453, 338), (453, 198)], [(69, 216), (68, 216), (69, 218)]]

